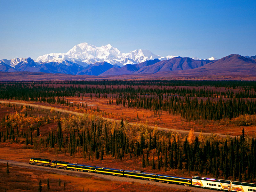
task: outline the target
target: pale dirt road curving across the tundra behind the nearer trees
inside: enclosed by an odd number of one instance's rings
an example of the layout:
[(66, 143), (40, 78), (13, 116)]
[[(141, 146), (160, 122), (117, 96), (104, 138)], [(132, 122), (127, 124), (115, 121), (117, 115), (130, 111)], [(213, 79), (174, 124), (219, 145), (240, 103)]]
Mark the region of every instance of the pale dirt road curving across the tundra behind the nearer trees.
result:
[[(63, 112), (63, 113), (71, 113), (74, 115), (80, 115), (83, 116), (84, 113), (78, 113), (75, 111), (69, 111), (69, 110), (65, 110), (65, 109), (59, 109), (59, 108), (54, 108), (54, 107), (47, 107), (47, 106), (43, 106), (43, 105), (35, 105), (35, 104), (30, 104), (30, 103), (20, 103), (20, 102), (14, 102), (14, 101), (3, 101), (0, 100), (0, 103), (12, 103), (12, 104), (17, 104), (17, 105), (26, 105), (26, 106), (31, 106), (31, 107), (36, 107), (36, 108), (44, 108), (44, 109), (52, 109), (55, 111), (59, 111), (59, 112)], [(115, 122), (120, 122), (120, 120), (116, 120), (116, 119), (110, 119), (110, 118), (106, 118), (106, 117), (101, 117), (104, 120), (108, 120), (108, 121), (115, 121)], [(130, 125), (135, 125), (135, 123), (129, 123)], [(155, 126), (151, 126), (148, 125), (148, 127), (154, 129)], [(189, 131), (186, 130), (177, 130), (177, 129), (168, 129), (168, 128), (164, 128), (164, 127), (157, 127), (158, 130), (163, 130), (163, 131), (173, 131), (173, 132), (179, 132), (179, 133), (185, 133), (188, 134)], [(196, 135), (199, 135), (200, 132), (194, 132)], [(206, 132), (202, 132), (203, 135), (211, 135), (212, 133), (206, 133)], [(215, 133), (216, 135), (220, 136), (220, 137), (227, 137), (227, 135), (224, 134), (219, 134), (219, 133)], [(235, 137), (233, 135), (230, 135), (230, 137)]]

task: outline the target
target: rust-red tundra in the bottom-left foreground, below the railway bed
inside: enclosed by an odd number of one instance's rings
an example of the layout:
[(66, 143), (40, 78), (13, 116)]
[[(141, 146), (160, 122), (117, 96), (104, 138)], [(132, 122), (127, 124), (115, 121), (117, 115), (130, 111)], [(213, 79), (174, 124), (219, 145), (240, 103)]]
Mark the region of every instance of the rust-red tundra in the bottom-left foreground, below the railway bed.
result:
[[(0, 191), (26, 191), (34, 192), (38, 190), (39, 180), (42, 182), (42, 191), (174, 191), (182, 192), (179, 189), (158, 187), (155, 185), (145, 185), (134, 182), (117, 182), (103, 180), (92, 176), (75, 177), (62, 174), (53, 174), (46, 171), (38, 171), (28, 168), (20, 168), (9, 165), (10, 173), (6, 173), (6, 164), (0, 164)], [(47, 189), (47, 178), (49, 178), (50, 189)], [(60, 186), (59, 186), (59, 180)], [(65, 188), (64, 188), (65, 182)]]

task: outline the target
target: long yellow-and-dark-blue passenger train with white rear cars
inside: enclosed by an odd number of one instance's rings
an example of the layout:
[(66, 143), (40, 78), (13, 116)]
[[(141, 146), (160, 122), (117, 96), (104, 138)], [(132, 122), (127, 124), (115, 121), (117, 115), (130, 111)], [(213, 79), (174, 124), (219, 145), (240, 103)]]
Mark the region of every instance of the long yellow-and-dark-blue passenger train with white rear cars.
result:
[(232, 180), (221, 180), (221, 179), (199, 177), (199, 176), (192, 176), (191, 178), (185, 178), (185, 177), (177, 177), (177, 176), (171, 176), (171, 175), (148, 173), (148, 172), (143, 172), (139, 170), (131, 171), (131, 170), (124, 170), (124, 169), (69, 163), (66, 161), (55, 161), (55, 160), (51, 161), (50, 159), (41, 159), (41, 158), (35, 158), (35, 157), (31, 157), (29, 159), (29, 164), (66, 169), (66, 170), (72, 170), (72, 171), (108, 174), (113, 176), (156, 181), (161, 183), (172, 183), (172, 184), (179, 184), (179, 185), (220, 190), (220, 191), (256, 192), (256, 184), (245, 183), (240, 181), (232, 181)]

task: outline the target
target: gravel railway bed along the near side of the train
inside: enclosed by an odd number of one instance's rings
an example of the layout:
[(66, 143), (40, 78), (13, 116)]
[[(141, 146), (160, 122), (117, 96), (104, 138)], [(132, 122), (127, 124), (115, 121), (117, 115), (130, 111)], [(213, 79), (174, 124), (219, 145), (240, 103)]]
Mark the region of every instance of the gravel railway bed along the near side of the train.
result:
[(112, 180), (112, 181), (119, 181), (119, 182), (137, 182), (141, 184), (148, 184), (148, 185), (157, 185), (160, 187), (168, 187), (171, 189), (181, 189), (181, 190), (187, 190), (187, 191), (194, 191), (194, 192), (214, 192), (215, 190), (210, 189), (203, 189), (203, 188), (194, 188), (194, 187), (187, 187), (184, 185), (175, 185), (175, 184), (168, 184), (168, 183), (160, 183), (160, 182), (152, 182), (148, 180), (140, 180), (140, 179), (130, 179), (126, 177), (116, 177), (112, 175), (103, 175), (103, 174), (96, 174), (96, 173), (88, 173), (88, 172), (76, 172), (76, 171), (70, 171), (70, 170), (64, 170), (64, 169), (56, 169), (51, 167), (43, 167), (43, 166), (37, 166), (37, 165), (30, 165), (28, 163), (24, 162), (18, 162), (18, 161), (12, 161), (12, 160), (5, 160), (0, 159), (0, 163), (6, 164), (8, 162), (8, 165), (10, 166), (19, 166), (19, 167), (25, 167), (28, 169), (36, 169), (39, 171), (48, 171), (53, 172), (56, 174), (69, 174), (70, 176), (77, 176), (77, 177), (86, 177), (86, 176), (94, 176), (99, 177), (101, 179), (105, 180)]

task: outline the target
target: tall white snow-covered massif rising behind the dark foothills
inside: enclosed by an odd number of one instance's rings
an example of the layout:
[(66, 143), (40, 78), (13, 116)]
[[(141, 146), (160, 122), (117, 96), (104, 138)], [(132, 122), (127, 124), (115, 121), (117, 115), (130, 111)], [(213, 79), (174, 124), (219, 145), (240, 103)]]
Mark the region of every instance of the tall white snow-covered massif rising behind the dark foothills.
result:
[(37, 58), (37, 62), (55, 62), (56, 60), (80, 61), (87, 64), (97, 62), (108, 62), (112, 65), (124, 66), (126, 64), (137, 64), (146, 60), (159, 58), (149, 50), (137, 49), (129, 53), (121, 53), (110, 44), (96, 47), (88, 43), (75, 45), (66, 53), (50, 53)]

